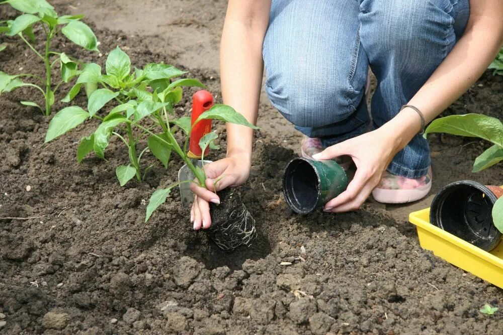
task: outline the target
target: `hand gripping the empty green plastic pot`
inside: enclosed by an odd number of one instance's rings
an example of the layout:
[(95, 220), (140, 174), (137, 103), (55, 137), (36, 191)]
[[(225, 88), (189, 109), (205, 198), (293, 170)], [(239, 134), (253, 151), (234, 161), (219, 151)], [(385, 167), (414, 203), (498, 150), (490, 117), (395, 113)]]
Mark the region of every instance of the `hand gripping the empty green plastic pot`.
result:
[(333, 213), (359, 209), (372, 190), (379, 184), (386, 167), (401, 149), (394, 134), (378, 129), (326, 148), (313, 155), (317, 160), (349, 155), (356, 165), (356, 173), (348, 188), (328, 201), (324, 210)]

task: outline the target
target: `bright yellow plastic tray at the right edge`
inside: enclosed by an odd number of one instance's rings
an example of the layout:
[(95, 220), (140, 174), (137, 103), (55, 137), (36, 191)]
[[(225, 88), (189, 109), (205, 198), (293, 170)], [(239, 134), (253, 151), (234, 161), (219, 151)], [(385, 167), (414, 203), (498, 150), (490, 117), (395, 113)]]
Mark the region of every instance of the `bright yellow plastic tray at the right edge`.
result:
[(423, 249), (489, 283), (503, 288), (503, 239), (491, 252), (483, 251), (430, 224), (430, 208), (410, 213)]

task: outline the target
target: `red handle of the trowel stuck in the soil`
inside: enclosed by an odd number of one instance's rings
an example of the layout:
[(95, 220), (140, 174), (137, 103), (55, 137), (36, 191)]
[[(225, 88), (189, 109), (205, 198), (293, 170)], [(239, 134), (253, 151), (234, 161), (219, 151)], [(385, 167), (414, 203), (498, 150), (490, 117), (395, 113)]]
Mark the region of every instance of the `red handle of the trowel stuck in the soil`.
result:
[[(192, 97), (192, 118), (191, 125), (203, 114), (206, 110), (213, 106), (213, 96), (206, 90), (200, 90), (194, 93)], [(201, 138), (211, 132), (211, 120), (202, 120), (192, 129), (190, 133), (189, 158), (201, 159), (203, 151), (199, 147)], [(209, 148), (206, 148), (204, 154), (208, 154)]]

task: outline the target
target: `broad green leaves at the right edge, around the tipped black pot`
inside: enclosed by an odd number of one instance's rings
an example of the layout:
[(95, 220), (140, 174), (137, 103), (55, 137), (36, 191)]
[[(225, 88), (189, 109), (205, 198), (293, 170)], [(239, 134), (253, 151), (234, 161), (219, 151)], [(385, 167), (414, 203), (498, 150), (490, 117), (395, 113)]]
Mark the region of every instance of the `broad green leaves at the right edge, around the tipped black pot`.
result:
[[(503, 124), (500, 120), (480, 114), (451, 115), (433, 121), (425, 131), (476, 137), (493, 145), (480, 154), (473, 164), (472, 172), (480, 172), (503, 161)], [(503, 197), (492, 208), (494, 226), (503, 233)]]

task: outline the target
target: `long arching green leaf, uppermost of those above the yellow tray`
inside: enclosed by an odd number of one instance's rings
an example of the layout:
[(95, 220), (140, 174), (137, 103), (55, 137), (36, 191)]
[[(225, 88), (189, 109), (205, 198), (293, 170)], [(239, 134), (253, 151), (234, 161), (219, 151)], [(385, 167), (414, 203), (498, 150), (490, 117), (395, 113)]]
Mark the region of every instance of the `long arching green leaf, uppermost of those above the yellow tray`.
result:
[(433, 121), (425, 131), (478, 137), (503, 147), (503, 124), (496, 118), (481, 114), (451, 115)]

